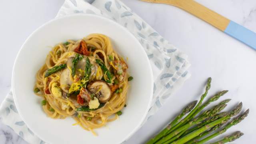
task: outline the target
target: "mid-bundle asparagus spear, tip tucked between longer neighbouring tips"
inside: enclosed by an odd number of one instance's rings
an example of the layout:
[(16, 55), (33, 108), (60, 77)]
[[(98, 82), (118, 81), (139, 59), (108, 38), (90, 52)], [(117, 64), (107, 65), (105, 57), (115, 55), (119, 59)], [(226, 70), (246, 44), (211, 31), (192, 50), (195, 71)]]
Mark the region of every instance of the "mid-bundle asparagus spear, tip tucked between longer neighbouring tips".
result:
[(210, 118), (211, 116), (214, 116), (215, 114), (217, 114), (218, 112), (220, 112), (221, 110), (223, 110), (226, 107), (226, 104), (221, 104), (217, 107), (212, 108), (211, 110), (208, 110), (209, 112), (206, 114), (203, 114), (202, 116), (195, 118), (194, 120), (188, 122), (187, 124), (185, 124), (184, 126), (181, 126), (180, 128), (177, 128), (176, 130), (174, 130), (173, 132), (171, 132), (170, 134), (168, 134), (167, 136), (165, 136), (164, 138), (162, 138), (161, 140), (159, 140), (158, 142), (156, 142), (155, 144), (162, 144), (166, 141), (169, 142), (169, 140), (176, 136), (177, 134), (179, 134), (180, 132), (187, 130), (188, 128), (196, 125), (196, 124), (200, 124), (202, 121), (206, 120), (207, 118)]

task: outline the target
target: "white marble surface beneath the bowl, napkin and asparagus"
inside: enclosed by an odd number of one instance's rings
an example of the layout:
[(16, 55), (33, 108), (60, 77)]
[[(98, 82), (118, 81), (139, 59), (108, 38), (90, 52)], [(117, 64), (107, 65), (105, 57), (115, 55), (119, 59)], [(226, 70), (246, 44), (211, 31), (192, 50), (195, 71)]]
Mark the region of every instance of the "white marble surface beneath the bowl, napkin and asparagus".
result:
[[(242, 101), (244, 109), (250, 108), (248, 118), (228, 130), (228, 133), (241, 130), (245, 134), (232, 143), (256, 143), (256, 51), (173, 6), (138, 0), (122, 1), (162, 36), (188, 54), (192, 64), (192, 77), (126, 143), (143, 143), (158, 132), (184, 104), (199, 98), (209, 76), (213, 78), (210, 94), (223, 88), (228, 89), (230, 92), (222, 99), (232, 98), (231, 106)], [(256, 32), (255, 0), (196, 1)], [(64, 0), (0, 1), (0, 102), (10, 90), (12, 66), (20, 46), (32, 31), (56, 16), (63, 2)], [(1, 123), (0, 143), (26, 144), (11, 128)]]

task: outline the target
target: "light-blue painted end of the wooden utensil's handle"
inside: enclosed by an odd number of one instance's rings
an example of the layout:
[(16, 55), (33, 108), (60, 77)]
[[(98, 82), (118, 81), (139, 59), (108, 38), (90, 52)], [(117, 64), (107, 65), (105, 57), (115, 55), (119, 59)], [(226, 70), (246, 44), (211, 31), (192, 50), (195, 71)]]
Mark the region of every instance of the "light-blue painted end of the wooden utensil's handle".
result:
[(256, 33), (230, 21), (224, 32), (256, 50)]

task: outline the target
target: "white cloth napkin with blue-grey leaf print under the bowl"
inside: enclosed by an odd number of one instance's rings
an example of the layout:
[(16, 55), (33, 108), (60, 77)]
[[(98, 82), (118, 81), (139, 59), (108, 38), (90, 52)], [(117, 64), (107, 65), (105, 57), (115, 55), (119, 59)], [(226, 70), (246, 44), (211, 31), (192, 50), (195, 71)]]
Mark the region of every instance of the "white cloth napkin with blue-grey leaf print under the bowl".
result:
[[(120, 0), (66, 0), (58, 16), (74, 13), (96, 14), (110, 18), (127, 28), (141, 43), (150, 61), (154, 92), (151, 108), (144, 122), (150, 118), (166, 101), (166, 98), (182, 86), (190, 77), (187, 69), (190, 63), (183, 54), (151, 26), (136, 15)], [(22, 121), (16, 110), (12, 91), (0, 106), (0, 117), (24, 140), (32, 144), (44, 144)]]

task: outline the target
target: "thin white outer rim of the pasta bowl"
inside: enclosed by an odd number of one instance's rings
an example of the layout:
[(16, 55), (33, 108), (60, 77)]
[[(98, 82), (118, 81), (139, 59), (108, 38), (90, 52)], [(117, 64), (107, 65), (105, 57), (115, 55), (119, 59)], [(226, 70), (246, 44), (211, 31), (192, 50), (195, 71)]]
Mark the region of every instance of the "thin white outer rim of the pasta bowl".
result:
[[(28, 38), (26, 38), (26, 40), (24, 41), (24, 43), (22, 44), (22, 46), (20, 47), (20, 50), (18, 51), (18, 54), (14, 60), (14, 65), (12, 67), (12, 94), (13, 94), (13, 98), (14, 98), (14, 104), (18, 110), (18, 114), (20, 115), (21, 119), (24, 121), (24, 123), (26, 124), (26, 126), (32, 130), (32, 132), (34, 132), (34, 134), (40, 138), (41, 140), (43, 140), (44, 142), (47, 142), (44, 140), (43, 136), (40, 136), (38, 135), (38, 133), (36, 132), (36, 130), (34, 130), (33, 127), (29, 126), (27, 123), (26, 123), (26, 120), (24, 119), (24, 116), (22, 115), (22, 113), (20, 112), (20, 106), (16, 100), (16, 94), (15, 94), (15, 85), (14, 85), (14, 81), (15, 81), (15, 76), (14, 76), (14, 70), (15, 70), (15, 67), (16, 67), (16, 62), (17, 62), (17, 59), (18, 57), (20, 56), (20, 52), (22, 51), (22, 49), (24, 48), (24, 45), (27, 43), (27, 41), (32, 37), (34, 36), (34, 34), (36, 32), (38, 32), (38, 30), (40, 30), (41, 28), (43, 28), (44, 26), (47, 26), (49, 24), (51, 24), (52, 22), (54, 21), (58, 21), (60, 19), (63, 19), (63, 18), (69, 18), (69, 17), (73, 17), (73, 16), (92, 16), (92, 17), (97, 17), (97, 18), (100, 18), (100, 19), (104, 19), (112, 24), (115, 24), (116, 26), (118, 26), (119, 28), (123, 29), (124, 31), (127, 32), (127, 34), (129, 34), (133, 39), (134, 39), (134, 42), (138, 43), (138, 46), (140, 46), (140, 48), (143, 50), (143, 54), (147, 57), (147, 54), (144, 50), (144, 48), (142, 47), (142, 45), (140, 44), (140, 42), (137, 40), (137, 38), (129, 31), (127, 30), (124, 26), (118, 24), (117, 22), (115, 22), (114, 20), (111, 20), (110, 18), (106, 18), (104, 16), (100, 16), (100, 15), (97, 15), (97, 14), (86, 14), (86, 13), (80, 13), (80, 14), (68, 14), (68, 15), (65, 15), (65, 16), (58, 16), (56, 18), (53, 18), (52, 20), (49, 20), (48, 22), (42, 24), (40, 27), (36, 28), (36, 30), (34, 30), (29, 36)], [(150, 81), (151, 81), (151, 90), (150, 90), (150, 99), (149, 99), (149, 102), (148, 102), (148, 106), (146, 108), (146, 112), (143, 114), (142, 116), (142, 119), (138, 122), (137, 126), (134, 127), (134, 129), (131, 131), (131, 132), (128, 132), (128, 134), (122, 139), (122, 142), (126, 141), (128, 138), (130, 138), (141, 126), (142, 126), (142, 123), (144, 122), (147, 114), (148, 114), (148, 111), (150, 109), (150, 106), (151, 106), (151, 103), (152, 103), (152, 99), (153, 99), (153, 87), (154, 87), (154, 79), (153, 79), (153, 71), (152, 71), (152, 67), (150, 65), (150, 61), (147, 59), (147, 65), (149, 66), (150, 68)], [(47, 143), (51, 143), (51, 142), (47, 142)]]

